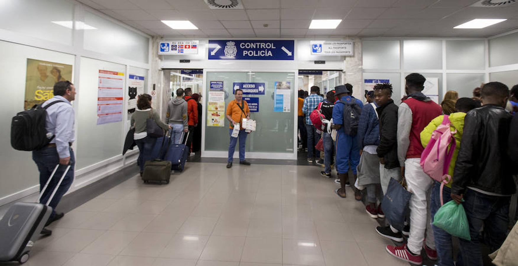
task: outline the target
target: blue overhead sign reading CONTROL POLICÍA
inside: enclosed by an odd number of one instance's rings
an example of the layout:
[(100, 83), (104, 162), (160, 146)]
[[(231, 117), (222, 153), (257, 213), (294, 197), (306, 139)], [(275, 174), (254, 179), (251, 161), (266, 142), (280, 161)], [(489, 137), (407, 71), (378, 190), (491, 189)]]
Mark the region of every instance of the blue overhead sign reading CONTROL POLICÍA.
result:
[(293, 60), (293, 40), (209, 40), (209, 60)]

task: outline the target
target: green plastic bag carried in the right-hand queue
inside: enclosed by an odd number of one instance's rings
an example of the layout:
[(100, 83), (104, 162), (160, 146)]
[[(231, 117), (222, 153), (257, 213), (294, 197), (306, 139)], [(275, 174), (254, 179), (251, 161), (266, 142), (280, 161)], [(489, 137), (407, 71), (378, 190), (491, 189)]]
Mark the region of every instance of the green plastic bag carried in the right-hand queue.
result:
[(432, 225), (448, 232), (453, 236), (471, 241), (469, 236), (468, 217), (462, 204), (451, 200), (442, 205), (435, 213)]

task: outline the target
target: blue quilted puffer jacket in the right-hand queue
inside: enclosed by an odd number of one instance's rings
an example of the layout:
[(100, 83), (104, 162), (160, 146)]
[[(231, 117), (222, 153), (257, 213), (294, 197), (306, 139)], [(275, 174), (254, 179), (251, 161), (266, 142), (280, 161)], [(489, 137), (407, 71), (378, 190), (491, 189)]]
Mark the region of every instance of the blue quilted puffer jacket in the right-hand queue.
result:
[(367, 145), (380, 144), (380, 122), (376, 110), (371, 104), (363, 106), (358, 124), (358, 145), (360, 149)]

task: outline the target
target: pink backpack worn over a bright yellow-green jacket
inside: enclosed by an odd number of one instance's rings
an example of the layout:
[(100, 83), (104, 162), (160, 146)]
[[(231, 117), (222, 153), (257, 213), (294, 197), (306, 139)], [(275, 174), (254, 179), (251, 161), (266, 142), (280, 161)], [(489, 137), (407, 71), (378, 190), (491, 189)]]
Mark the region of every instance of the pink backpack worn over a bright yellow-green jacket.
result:
[[(448, 184), (451, 176), (448, 174), (450, 162), (453, 157), (453, 151), (457, 146), (454, 133), (457, 131), (450, 130), (450, 118), (444, 115), (442, 123), (431, 133), (430, 141), (423, 153), (421, 153), (421, 166), (423, 171), (434, 180), (441, 182), (440, 198), (442, 202), (442, 187)], [(451, 144), (450, 149), (448, 146)]]

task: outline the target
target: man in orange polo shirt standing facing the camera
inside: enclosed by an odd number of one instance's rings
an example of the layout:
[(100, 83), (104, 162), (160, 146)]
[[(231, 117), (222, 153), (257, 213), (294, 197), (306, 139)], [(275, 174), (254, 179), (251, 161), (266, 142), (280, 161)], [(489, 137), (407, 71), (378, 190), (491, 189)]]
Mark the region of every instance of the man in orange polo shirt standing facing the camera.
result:
[(230, 121), (230, 145), (228, 146), (228, 163), (227, 168), (232, 167), (232, 161), (234, 160), (234, 150), (236, 149), (236, 144), (239, 138), (239, 164), (250, 165), (248, 161), (244, 160), (244, 145), (247, 141), (247, 132), (244, 132), (244, 129), (239, 128), (239, 135), (237, 137), (232, 137), (232, 132), (234, 131), (234, 125), (241, 125), (243, 118), (250, 118), (250, 109), (248, 108), (248, 103), (243, 100), (243, 91), (237, 89), (234, 92), (235, 100), (229, 102), (226, 110), (226, 118)]

